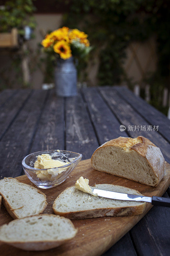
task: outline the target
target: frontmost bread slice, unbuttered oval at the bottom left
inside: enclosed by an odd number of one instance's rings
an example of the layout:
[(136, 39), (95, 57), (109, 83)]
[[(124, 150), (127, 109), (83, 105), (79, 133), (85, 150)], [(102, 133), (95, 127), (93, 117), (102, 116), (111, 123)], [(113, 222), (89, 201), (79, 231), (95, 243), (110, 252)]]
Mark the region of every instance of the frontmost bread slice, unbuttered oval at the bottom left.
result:
[(40, 214), (12, 220), (0, 227), (0, 242), (26, 251), (45, 251), (73, 238), (72, 222), (55, 214)]

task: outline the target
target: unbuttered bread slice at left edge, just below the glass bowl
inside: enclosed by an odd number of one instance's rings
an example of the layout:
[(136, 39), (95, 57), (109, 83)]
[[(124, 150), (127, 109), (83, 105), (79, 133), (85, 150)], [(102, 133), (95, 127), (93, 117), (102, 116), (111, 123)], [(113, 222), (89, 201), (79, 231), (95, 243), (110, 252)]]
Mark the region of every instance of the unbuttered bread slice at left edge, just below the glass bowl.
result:
[(13, 178), (0, 180), (0, 194), (6, 210), (14, 219), (39, 214), (47, 206), (44, 193)]

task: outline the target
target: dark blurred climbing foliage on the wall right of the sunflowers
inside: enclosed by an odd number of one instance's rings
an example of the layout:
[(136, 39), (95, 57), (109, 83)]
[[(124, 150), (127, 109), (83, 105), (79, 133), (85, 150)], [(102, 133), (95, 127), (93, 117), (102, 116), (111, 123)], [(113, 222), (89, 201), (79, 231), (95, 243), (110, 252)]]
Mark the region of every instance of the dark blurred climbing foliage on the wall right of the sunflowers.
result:
[(63, 17), (63, 24), (85, 31), (90, 43), (100, 49), (99, 85), (127, 81), (132, 88), (133, 83), (127, 79), (122, 67), (125, 49), (132, 41), (142, 42), (156, 36), (158, 70), (148, 74), (145, 82), (151, 84), (152, 104), (159, 108), (158, 94), (170, 84), (170, 1), (66, 0), (65, 3), (69, 11)]

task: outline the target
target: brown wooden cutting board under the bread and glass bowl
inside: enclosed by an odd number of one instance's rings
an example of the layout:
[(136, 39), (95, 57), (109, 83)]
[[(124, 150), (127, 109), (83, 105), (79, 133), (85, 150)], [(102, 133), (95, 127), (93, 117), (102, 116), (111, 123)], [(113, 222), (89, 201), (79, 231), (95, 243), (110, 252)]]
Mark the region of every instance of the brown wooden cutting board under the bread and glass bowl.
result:
[[(90, 159), (81, 161), (70, 176), (59, 186), (50, 189), (40, 189), (47, 195), (48, 206), (44, 213), (54, 213), (52, 209), (55, 198), (67, 187), (73, 186), (76, 180), (83, 176), (89, 179), (89, 185), (107, 183), (125, 186), (138, 190), (145, 196), (162, 196), (170, 185), (170, 164), (166, 163), (166, 175), (157, 187), (146, 186), (131, 180), (119, 178), (107, 173), (95, 171)], [(23, 183), (33, 185), (26, 175), (17, 177)], [(33, 185), (34, 186), (34, 185)], [(150, 209), (147, 203), (143, 214), (131, 217), (102, 217), (86, 220), (73, 220), (77, 235), (69, 242), (48, 251), (26, 252), (9, 245), (0, 244), (1, 256), (97, 256), (107, 251), (122, 236), (124, 236)], [(1, 207), (0, 225), (8, 223), (12, 217)]]

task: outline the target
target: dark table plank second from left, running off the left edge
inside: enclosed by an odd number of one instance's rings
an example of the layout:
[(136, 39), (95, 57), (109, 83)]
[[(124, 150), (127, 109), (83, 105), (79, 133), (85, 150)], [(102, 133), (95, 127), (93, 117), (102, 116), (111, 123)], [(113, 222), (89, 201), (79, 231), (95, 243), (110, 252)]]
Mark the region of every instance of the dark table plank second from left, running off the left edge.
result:
[(7, 100), (0, 108), (0, 139), (15, 119), (23, 104), (30, 96), (30, 90), (18, 90), (10, 100)]

